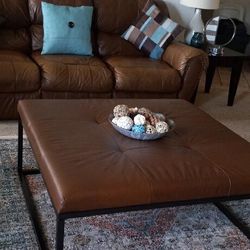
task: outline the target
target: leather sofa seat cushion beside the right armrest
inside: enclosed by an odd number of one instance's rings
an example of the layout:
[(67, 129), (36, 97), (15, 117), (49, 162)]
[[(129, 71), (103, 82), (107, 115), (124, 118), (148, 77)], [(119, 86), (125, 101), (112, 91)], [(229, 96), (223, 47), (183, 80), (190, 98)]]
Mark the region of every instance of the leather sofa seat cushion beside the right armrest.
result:
[(163, 61), (145, 57), (109, 57), (118, 91), (174, 93), (181, 88), (177, 70)]

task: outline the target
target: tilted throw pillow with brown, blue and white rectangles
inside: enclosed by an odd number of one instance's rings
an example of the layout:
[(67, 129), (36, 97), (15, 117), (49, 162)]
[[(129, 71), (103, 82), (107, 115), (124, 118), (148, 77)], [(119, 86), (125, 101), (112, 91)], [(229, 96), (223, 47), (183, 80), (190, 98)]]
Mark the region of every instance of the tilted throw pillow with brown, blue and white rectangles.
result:
[(153, 59), (160, 59), (166, 47), (181, 33), (183, 27), (162, 14), (153, 4), (142, 11), (135, 24), (130, 25), (122, 38)]

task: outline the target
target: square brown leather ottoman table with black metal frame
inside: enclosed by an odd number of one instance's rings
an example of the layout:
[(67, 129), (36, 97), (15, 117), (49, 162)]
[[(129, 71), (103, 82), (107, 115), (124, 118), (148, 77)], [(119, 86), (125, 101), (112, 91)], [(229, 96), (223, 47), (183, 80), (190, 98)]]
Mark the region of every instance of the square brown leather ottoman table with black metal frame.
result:
[[(176, 127), (155, 141), (137, 141), (113, 129), (117, 104), (147, 107)], [(169, 205), (214, 202), (249, 237), (221, 203), (249, 198), (250, 144), (183, 100), (24, 100), (18, 171), (39, 242), (33, 202), (22, 168), (23, 128), (57, 215), (56, 248), (63, 248), (67, 218)], [(34, 205), (34, 204), (33, 204)]]

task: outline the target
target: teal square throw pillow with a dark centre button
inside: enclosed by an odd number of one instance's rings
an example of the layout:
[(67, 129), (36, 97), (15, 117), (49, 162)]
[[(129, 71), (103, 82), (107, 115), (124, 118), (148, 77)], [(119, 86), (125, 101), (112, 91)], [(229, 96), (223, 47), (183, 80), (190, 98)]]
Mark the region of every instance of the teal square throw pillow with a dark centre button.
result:
[(92, 6), (70, 7), (42, 2), (42, 54), (93, 55)]

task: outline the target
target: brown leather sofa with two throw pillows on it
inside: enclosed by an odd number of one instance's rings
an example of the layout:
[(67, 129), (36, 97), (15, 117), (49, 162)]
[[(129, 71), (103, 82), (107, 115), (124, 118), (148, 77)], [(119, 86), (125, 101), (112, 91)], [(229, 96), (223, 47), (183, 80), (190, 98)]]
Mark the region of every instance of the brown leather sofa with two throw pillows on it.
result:
[[(50, 0), (79, 6), (91, 0)], [(41, 55), (40, 0), (0, 0), (0, 119), (17, 118), (30, 98), (183, 98), (191, 100), (207, 56), (171, 44), (151, 60), (120, 35), (148, 0), (92, 0), (94, 57)], [(167, 12), (165, 9), (164, 11)]]

